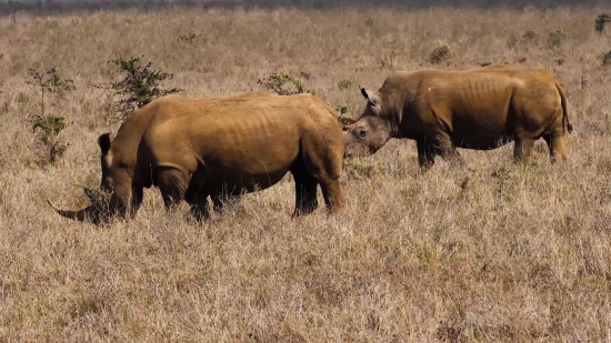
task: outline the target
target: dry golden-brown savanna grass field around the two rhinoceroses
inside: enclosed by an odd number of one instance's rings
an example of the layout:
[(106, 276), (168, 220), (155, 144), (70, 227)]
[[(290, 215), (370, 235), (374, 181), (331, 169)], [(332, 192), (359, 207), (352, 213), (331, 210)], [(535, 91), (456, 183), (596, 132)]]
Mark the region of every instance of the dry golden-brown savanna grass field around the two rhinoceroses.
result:
[[(608, 342), (611, 340), (611, 8), (172, 9), (0, 17), (0, 341)], [(550, 33), (552, 32), (552, 33)], [(300, 80), (357, 118), (359, 87), (393, 70), (540, 67), (568, 91), (569, 161), (544, 141), (460, 150), (418, 173), (413, 141), (345, 162), (347, 206), (292, 219), (294, 183), (247, 194), (203, 224), (144, 191), (133, 221), (58, 215), (99, 189), (98, 135), (116, 134), (124, 73), (143, 57), (186, 95)], [(33, 130), (44, 93), (66, 119)], [(34, 82), (30, 84), (28, 82)], [(52, 134), (51, 134), (52, 135)], [(59, 142), (59, 143), (58, 143)], [(68, 144), (50, 162), (50, 147)], [(56, 145), (52, 145), (56, 144)]]

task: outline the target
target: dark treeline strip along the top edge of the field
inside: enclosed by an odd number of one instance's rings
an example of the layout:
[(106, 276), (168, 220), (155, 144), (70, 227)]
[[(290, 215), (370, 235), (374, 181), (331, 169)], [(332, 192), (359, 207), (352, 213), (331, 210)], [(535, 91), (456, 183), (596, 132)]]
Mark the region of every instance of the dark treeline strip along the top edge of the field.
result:
[(454, 8), (493, 9), (498, 7), (522, 9), (524, 7), (555, 8), (559, 6), (592, 7), (609, 6), (609, 0), (2, 0), (0, 14), (10, 14), (18, 11), (34, 13), (68, 13), (88, 12), (98, 10), (129, 10), (141, 11), (178, 9), (178, 8), (302, 8), (330, 10), (350, 7), (387, 7), (395, 9), (423, 9), (438, 6)]

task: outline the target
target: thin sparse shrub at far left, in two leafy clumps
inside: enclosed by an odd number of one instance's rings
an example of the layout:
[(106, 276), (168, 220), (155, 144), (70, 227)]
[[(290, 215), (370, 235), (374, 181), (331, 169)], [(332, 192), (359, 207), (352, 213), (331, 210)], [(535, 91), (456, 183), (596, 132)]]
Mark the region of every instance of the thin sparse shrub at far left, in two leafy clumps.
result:
[(67, 92), (74, 90), (76, 87), (72, 80), (61, 78), (54, 67), (44, 72), (29, 69), (29, 73), (33, 80), (26, 82), (37, 88), (40, 87), (41, 93), (40, 113), (34, 117), (32, 131), (39, 133), (41, 154), (46, 155), (42, 163), (54, 164), (70, 145), (59, 139), (60, 132), (68, 127), (68, 123), (63, 117), (44, 113), (44, 93), (52, 93), (58, 98), (62, 98)]

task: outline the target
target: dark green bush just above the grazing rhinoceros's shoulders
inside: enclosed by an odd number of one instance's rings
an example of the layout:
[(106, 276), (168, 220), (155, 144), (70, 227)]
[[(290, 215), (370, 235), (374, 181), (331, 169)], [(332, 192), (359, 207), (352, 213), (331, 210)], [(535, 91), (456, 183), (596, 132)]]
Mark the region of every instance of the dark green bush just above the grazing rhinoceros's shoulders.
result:
[(156, 98), (181, 91), (179, 88), (160, 89), (159, 82), (173, 78), (173, 74), (163, 72), (161, 69), (151, 69), (152, 62), (140, 65), (141, 59), (142, 57), (137, 57), (128, 60), (116, 59), (109, 61), (114, 63), (120, 71), (127, 72), (123, 80), (111, 82), (110, 85), (111, 89), (117, 91), (114, 95), (127, 95), (127, 98), (119, 101), (121, 119)]

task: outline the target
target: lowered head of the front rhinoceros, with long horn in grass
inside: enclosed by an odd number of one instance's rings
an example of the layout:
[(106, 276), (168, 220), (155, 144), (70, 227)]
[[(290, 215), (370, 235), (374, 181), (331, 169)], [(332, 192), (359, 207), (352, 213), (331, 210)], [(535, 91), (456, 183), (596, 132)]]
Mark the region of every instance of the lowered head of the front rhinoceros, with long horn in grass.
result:
[[(100, 190), (94, 191), (91, 189), (84, 189), (86, 195), (89, 198), (91, 204), (82, 210), (70, 211), (70, 210), (60, 210), (51, 201), (47, 200), (49, 204), (58, 212), (60, 215), (74, 219), (78, 221), (91, 221), (94, 224), (106, 223), (113, 214), (120, 212), (122, 215), (126, 214), (126, 205), (129, 203), (129, 196), (131, 194), (123, 194), (122, 192), (130, 186), (124, 186), (124, 184), (118, 183), (124, 182), (126, 171), (121, 165), (114, 165), (112, 155), (110, 152), (110, 134), (103, 133), (98, 138), (98, 145), (101, 150), (101, 169), (102, 176), (100, 182)], [(119, 191), (119, 192), (117, 192)]]

